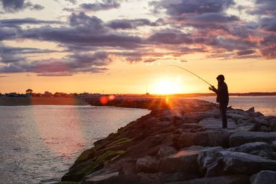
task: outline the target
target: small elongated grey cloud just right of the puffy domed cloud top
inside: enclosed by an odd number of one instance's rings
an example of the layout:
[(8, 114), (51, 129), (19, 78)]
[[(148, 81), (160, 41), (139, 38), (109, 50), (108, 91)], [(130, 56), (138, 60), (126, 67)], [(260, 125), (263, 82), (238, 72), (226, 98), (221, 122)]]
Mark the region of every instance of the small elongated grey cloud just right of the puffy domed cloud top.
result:
[(139, 26), (144, 26), (144, 25), (159, 26), (164, 24), (165, 23), (163, 19), (157, 19), (157, 21), (155, 22), (152, 22), (148, 19), (117, 19), (106, 23), (106, 26), (114, 30), (117, 30), (117, 29), (126, 30), (126, 29), (136, 29)]

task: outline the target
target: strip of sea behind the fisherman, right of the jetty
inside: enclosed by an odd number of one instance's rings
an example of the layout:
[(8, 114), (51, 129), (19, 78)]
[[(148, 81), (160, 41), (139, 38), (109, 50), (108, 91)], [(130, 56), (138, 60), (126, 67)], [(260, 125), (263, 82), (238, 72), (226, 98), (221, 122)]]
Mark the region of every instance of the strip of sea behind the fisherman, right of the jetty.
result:
[[(216, 96), (204, 96), (195, 99), (216, 103)], [(276, 96), (230, 96), (229, 106), (242, 110), (255, 107), (255, 112), (262, 112), (266, 116), (276, 116)]]

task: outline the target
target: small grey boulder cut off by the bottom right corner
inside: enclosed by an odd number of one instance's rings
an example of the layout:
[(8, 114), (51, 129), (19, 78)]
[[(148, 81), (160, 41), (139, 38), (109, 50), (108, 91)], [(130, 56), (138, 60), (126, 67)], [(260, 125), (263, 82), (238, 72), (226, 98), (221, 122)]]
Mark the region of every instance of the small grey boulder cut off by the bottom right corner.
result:
[(273, 171), (261, 171), (257, 174), (253, 184), (275, 184), (276, 183), (276, 172)]

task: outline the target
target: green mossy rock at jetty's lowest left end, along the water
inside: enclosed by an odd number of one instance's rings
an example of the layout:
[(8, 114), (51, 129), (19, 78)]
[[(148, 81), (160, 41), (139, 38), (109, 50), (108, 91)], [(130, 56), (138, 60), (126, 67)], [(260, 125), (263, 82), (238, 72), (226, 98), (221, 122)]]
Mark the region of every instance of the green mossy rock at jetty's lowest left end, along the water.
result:
[(124, 152), (123, 150), (107, 151), (96, 158), (83, 161), (77, 165), (75, 164), (70, 168), (69, 172), (61, 178), (61, 181), (81, 181), (84, 176), (103, 166), (105, 161), (123, 154)]

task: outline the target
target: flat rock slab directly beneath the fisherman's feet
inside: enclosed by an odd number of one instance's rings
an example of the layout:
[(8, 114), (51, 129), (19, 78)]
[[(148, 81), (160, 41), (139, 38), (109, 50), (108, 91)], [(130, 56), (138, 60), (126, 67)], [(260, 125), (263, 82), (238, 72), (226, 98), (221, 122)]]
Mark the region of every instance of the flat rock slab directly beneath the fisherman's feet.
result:
[[(199, 121), (198, 125), (202, 127), (221, 128), (222, 122), (221, 119), (210, 118)], [(227, 126), (229, 129), (235, 129), (237, 127), (236, 123), (230, 120), (228, 120)]]

